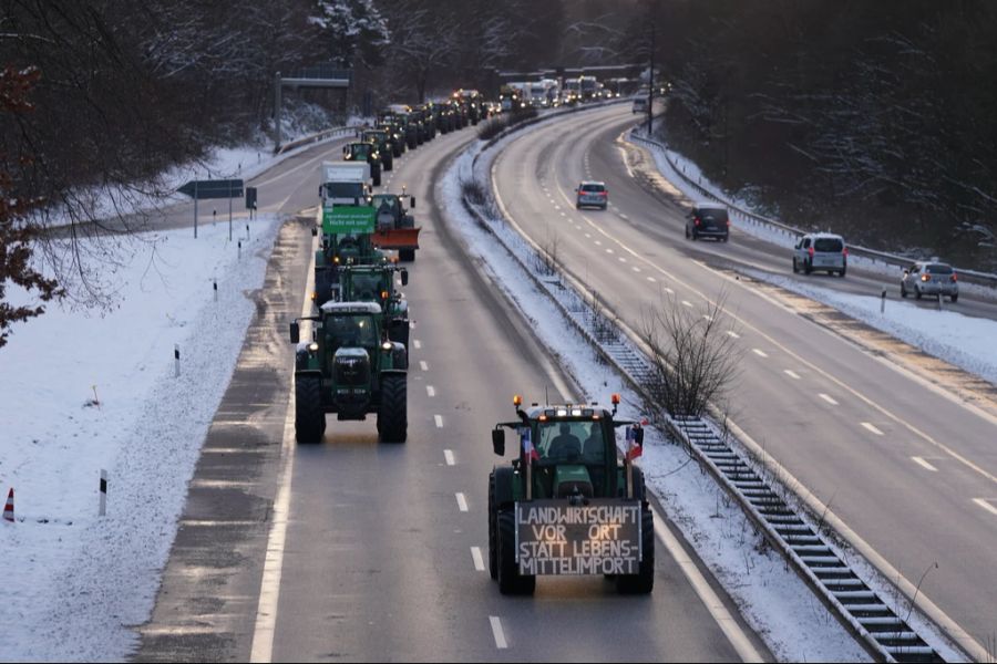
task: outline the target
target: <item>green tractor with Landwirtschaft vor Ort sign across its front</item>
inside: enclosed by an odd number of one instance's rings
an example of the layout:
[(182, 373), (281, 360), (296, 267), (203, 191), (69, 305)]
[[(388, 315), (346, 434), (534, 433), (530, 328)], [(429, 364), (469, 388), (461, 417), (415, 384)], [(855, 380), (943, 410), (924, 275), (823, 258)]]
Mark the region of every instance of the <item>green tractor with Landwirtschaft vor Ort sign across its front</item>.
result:
[[(518, 458), (489, 475), (489, 571), (502, 594), (533, 594), (537, 575), (603, 574), (621, 593), (655, 584), (655, 525), (639, 456), (644, 429), (598, 405), (522, 407), (495, 425), (492, 447), (505, 455), (505, 428), (518, 434)], [(616, 429), (628, 449), (617, 459)]]

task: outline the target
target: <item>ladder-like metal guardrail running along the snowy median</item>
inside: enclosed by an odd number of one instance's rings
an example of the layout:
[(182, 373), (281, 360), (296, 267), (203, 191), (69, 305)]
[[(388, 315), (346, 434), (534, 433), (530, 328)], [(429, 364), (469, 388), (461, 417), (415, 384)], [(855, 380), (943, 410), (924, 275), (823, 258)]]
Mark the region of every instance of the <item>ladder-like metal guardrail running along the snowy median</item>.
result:
[[(643, 393), (655, 369), (615, 321), (559, 276), (537, 274), (535, 266), (544, 264), (544, 261), (538, 260), (536, 249), (526, 246), (522, 236), (504, 237), (502, 230), (473, 205), (464, 200), (464, 207), (502, 241), (522, 269), (602, 356)], [(680, 417), (671, 422), (671, 428), (868, 650), (886, 662), (945, 661), (723, 440), (711, 422)]]

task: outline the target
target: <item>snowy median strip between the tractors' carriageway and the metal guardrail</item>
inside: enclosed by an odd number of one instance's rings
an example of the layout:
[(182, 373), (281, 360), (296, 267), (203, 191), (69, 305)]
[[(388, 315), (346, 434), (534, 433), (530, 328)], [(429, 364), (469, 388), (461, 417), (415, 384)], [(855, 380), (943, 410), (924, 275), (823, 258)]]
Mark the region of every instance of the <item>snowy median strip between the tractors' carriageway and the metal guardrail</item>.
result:
[[(579, 403), (606, 402), (610, 393), (618, 392), (624, 395), (621, 415), (639, 417), (640, 397), (600, 363), (514, 258), (513, 252), (526, 256), (528, 243), (494, 209), (489, 210), (491, 206), (479, 208), (487, 227), (464, 211), (462, 184), (474, 180), (487, 190), (492, 159), (507, 141), (518, 136), (500, 142), (494, 149), (482, 152), (484, 144), (477, 142), (464, 152), (440, 184), (442, 209), (452, 212), (450, 222), (464, 238), (469, 252), (585, 392), (573, 397)], [(868, 661), (783, 559), (764, 544), (742, 510), (681, 447), (649, 429), (639, 465), (668, 517), (780, 661)]]

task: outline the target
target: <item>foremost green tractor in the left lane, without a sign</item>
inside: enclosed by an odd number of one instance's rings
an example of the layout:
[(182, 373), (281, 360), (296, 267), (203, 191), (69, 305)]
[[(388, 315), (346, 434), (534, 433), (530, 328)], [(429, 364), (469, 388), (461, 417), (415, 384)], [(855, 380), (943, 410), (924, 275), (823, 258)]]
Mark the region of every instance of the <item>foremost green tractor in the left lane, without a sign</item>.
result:
[[(301, 342), (299, 321), (317, 323), (312, 340)], [(383, 443), (408, 436), (408, 353), (388, 339), (381, 307), (374, 302), (326, 302), (319, 315), (290, 324), (295, 355), (295, 436), (298, 443), (320, 443), (326, 413), (337, 419), (378, 416)]]

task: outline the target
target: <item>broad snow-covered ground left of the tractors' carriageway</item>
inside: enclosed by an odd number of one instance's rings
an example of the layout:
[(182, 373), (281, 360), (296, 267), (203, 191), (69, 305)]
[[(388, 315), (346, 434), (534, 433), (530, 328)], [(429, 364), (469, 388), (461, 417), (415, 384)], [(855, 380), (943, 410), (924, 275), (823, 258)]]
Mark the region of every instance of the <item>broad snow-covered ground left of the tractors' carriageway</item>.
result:
[(0, 352), (0, 488), (16, 496), (0, 658), (120, 661), (134, 645), (279, 226), (260, 215), (241, 251), (227, 222), (142, 234), (115, 310), (50, 305)]

